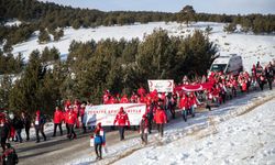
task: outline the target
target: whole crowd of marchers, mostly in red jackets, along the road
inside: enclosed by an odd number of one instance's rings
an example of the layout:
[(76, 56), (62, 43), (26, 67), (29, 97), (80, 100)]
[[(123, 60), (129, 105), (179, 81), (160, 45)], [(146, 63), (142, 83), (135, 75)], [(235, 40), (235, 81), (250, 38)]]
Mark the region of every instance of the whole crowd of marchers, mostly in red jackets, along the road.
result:
[[(174, 90), (173, 92), (166, 94), (157, 92), (156, 90), (147, 92), (145, 88), (140, 87), (136, 92), (133, 91), (130, 97), (127, 95), (119, 97), (119, 95), (112, 95), (109, 90), (106, 90), (102, 96), (102, 103), (145, 103), (146, 112), (142, 116), (139, 131), (142, 143), (147, 144), (147, 135), (152, 132), (153, 125), (156, 125), (160, 136), (163, 136), (164, 124), (176, 118), (176, 110), (180, 111), (183, 120), (187, 121), (188, 116), (195, 117), (198, 107), (206, 107), (206, 109), (211, 110), (211, 107), (224, 103), (227, 100), (238, 95), (254, 90), (257, 86), (263, 90), (265, 84), (268, 84), (268, 88), (272, 90), (274, 75), (275, 64), (268, 63), (268, 65), (263, 67), (257, 63), (253, 65), (251, 74), (248, 72), (242, 72), (239, 75), (224, 74), (222, 72), (209, 73), (208, 76), (202, 76), (200, 79), (193, 81), (185, 76), (179, 84), (196, 85), (210, 82), (212, 85), (211, 88), (206, 90)], [(57, 128), (59, 130), (59, 135), (64, 135), (63, 123), (66, 125), (66, 134), (69, 140), (77, 138), (75, 128), (81, 129), (82, 133), (87, 133), (88, 129), (84, 121), (86, 106), (87, 102), (75, 100), (73, 103), (72, 101), (66, 101), (64, 103), (64, 109), (56, 107), (53, 114), (54, 132), (52, 136), (56, 136)], [(8, 140), (19, 143), (23, 142), (21, 136), (23, 129), (26, 134), (25, 141), (29, 141), (32, 125), (35, 129), (36, 143), (40, 143), (40, 133), (44, 141), (46, 141), (47, 138), (44, 133), (45, 122), (46, 118), (40, 110), (36, 111), (34, 119), (25, 111), (20, 116), (10, 114), (0, 117), (0, 140), (3, 152), (7, 150)], [(116, 116), (113, 125), (118, 127), (120, 140), (123, 141), (124, 130), (125, 128), (130, 128), (128, 113), (123, 110), (123, 107), (120, 108)], [(102, 158), (101, 146), (106, 143), (105, 132), (102, 132), (103, 129), (101, 123), (98, 123), (94, 131), (97, 160)]]

